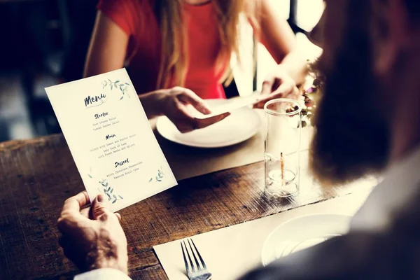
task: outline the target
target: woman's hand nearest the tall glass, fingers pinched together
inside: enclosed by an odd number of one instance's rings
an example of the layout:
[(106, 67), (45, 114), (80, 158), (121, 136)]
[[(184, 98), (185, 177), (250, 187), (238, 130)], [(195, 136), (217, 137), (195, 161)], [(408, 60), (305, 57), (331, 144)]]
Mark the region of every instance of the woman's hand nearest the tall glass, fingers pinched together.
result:
[(262, 109), (266, 102), (276, 98), (296, 99), (299, 96), (295, 80), (288, 76), (288, 73), (280, 64), (270, 73), (262, 83), (262, 90), (259, 102), (254, 108)]

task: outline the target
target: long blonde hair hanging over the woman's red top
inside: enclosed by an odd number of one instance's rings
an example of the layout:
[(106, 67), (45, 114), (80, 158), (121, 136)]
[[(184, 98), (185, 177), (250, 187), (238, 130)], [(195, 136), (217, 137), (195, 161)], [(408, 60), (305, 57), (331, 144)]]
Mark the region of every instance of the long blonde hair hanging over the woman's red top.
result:
[[(172, 81), (183, 86), (188, 65), (188, 43), (186, 26), (183, 25), (183, 3), (185, 0), (156, 0), (155, 12), (160, 22), (162, 37), (162, 55), (157, 88), (165, 88)], [(239, 60), (239, 16), (246, 14), (251, 24), (256, 27), (257, 0), (211, 0), (216, 10), (221, 51), (217, 58), (218, 70), (225, 66), (232, 53)], [(232, 70), (226, 67), (221, 82), (232, 81)]]

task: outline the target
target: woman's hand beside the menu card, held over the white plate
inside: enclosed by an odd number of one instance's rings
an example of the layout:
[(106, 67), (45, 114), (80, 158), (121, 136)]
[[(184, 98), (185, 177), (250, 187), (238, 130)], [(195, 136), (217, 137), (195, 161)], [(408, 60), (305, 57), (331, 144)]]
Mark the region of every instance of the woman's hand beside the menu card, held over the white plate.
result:
[(211, 110), (204, 100), (198, 97), (192, 90), (183, 87), (173, 87), (172, 89), (160, 92), (161, 97), (158, 98), (158, 106), (160, 106), (162, 113), (182, 133), (208, 127), (230, 115), (230, 113), (224, 113), (211, 118), (197, 119), (190, 113), (188, 109), (189, 105), (204, 115), (211, 113)]

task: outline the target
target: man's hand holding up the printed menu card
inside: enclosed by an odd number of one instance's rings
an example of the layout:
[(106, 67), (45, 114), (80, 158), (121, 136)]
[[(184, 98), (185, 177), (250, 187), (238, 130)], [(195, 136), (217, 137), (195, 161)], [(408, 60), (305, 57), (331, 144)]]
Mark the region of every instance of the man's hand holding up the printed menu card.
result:
[(85, 208), (88, 203), (85, 191), (64, 202), (57, 222), (64, 255), (81, 272), (110, 267), (127, 274), (127, 239), (120, 214), (108, 209), (104, 195), (98, 195), (91, 207)]

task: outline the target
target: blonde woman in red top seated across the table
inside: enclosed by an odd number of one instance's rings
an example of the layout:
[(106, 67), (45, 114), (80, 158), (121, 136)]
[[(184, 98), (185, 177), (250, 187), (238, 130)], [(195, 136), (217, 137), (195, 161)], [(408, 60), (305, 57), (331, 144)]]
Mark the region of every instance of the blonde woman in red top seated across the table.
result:
[(228, 114), (197, 120), (190, 104), (210, 113), (202, 99), (225, 98), (232, 80), (244, 12), (279, 66), (262, 85), (262, 100), (296, 94), (305, 62), (295, 37), (270, 0), (100, 0), (85, 76), (127, 67), (148, 118), (166, 115), (181, 132), (206, 127)]

